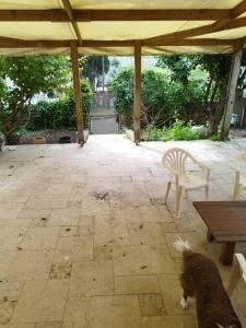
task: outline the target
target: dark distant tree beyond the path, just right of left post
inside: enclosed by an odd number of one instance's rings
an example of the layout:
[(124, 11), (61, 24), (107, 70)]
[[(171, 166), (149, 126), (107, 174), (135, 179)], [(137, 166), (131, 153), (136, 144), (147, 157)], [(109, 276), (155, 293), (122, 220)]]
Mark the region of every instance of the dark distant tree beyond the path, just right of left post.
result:
[[(108, 56), (104, 56), (104, 72), (109, 71)], [(95, 78), (103, 75), (103, 57), (102, 56), (89, 56), (83, 65), (81, 71), (83, 78), (87, 78), (92, 87), (95, 85)]]

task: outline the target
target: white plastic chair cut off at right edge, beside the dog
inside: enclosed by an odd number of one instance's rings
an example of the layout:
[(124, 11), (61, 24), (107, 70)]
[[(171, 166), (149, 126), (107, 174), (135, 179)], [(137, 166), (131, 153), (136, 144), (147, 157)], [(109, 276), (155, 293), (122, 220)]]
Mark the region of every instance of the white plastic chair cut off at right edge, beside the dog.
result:
[(238, 280), (243, 279), (246, 285), (246, 260), (243, 254), (234, 255), (232, 276), (229, 282), (227, 293), (231, 296)]

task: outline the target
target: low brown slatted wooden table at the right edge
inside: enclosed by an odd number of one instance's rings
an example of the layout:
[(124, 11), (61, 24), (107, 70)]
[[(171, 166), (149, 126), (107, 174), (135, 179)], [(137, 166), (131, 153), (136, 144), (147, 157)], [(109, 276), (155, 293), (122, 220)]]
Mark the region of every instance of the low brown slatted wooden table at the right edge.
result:
[(246, 201), (195, 201), (194, 206), (208, 226), (208, 239), (222, 243), (220, 260), (233, 262), (237, 242), (246, 242)]

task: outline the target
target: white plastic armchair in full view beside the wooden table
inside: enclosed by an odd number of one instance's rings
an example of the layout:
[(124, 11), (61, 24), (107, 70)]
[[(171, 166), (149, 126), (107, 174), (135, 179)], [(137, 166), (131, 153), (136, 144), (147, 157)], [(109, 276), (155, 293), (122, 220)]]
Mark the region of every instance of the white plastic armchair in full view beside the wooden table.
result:
[[(201, 174), (195, 175), (187, 172), (186, 162), (191, 161), (201, 167)], [(168, 198), (172, 183), (176, 185), (176, 218), (180, 216), (181, 202), (185, 192), (188, 190), (206, 188), (206, 198), (209, 198), (209, 176), (210, 167), (196, 160), (189, 152), (180, 148), (169, 149), (162, 159), (163, 165), (169, 171), (169, 179), (167, 181), (165, 203)]]

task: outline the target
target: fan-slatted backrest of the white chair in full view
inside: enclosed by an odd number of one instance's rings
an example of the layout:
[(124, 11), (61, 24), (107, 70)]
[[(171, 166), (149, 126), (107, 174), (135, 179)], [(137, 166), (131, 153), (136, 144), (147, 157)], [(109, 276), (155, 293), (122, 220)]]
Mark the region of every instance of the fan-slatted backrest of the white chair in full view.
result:
[(184, 174), (186, 160), (194, 160), (192, 155), (181, 148), (172, 148), (165, 152), (162, 159), (163, 165), (173, 174)]

